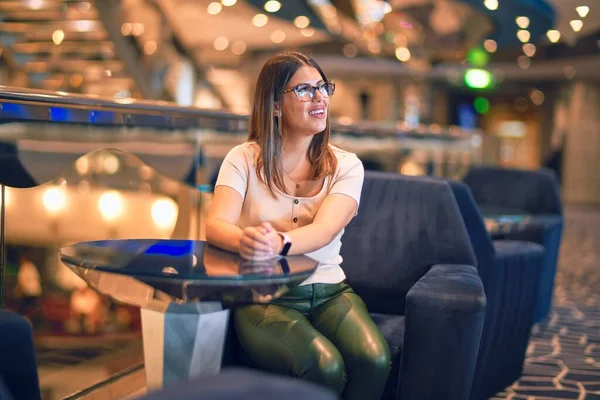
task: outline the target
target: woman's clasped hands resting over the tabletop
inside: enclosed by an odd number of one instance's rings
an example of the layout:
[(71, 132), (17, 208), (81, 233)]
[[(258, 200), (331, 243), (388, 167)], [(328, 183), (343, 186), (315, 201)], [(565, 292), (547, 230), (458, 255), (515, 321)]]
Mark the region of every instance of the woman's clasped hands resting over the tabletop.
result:
[(263, 222), (257, 227), (242, 231), (239, 252), (246, 260), (268, 260), (277, 257), (283, 247), (283, 240), (273, 226)]

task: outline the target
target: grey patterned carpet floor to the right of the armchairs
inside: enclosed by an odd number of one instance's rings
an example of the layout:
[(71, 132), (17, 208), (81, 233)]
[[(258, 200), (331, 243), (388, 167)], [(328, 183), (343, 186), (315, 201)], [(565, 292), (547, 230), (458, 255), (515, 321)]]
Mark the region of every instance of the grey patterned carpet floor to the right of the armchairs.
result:
[(521, 379), (492, 399), (600, 400), (600, 210), (567, 207), (550, 318)]

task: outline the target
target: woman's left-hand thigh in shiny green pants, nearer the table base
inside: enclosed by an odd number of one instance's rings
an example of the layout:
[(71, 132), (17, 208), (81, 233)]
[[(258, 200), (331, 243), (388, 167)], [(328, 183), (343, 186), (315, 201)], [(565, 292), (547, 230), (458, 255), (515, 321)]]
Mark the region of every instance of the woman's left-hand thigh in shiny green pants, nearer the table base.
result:
[(338, 394), (344, 389), (341, 354), (300, 312), (250, 305), (235, 311), (234, 323), (241, 347), (260, 368), (302, 377)]

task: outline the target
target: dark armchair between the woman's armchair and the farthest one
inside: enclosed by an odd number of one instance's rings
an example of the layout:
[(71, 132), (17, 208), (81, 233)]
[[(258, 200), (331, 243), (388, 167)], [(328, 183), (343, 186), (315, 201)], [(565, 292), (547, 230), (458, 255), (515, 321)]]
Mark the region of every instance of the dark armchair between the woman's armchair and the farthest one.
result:
[(539, 295), (544, 248), (492, 240), (469, 188), (449, 181), (467, 227), (487, 308), (471, 399), (492, 397), (521, 376)]

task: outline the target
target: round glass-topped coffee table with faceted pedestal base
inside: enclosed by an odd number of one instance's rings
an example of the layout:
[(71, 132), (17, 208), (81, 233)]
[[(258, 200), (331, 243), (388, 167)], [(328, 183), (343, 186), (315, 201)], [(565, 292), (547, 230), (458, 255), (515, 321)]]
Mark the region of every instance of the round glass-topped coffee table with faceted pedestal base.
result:
[(60, 258), (91, 287), (141, 308), (148, 389), (221, 368), (229, 309), (268, 303), (308, 278), (307, 256), (247, 261), (195, 240), (74, 244)]

